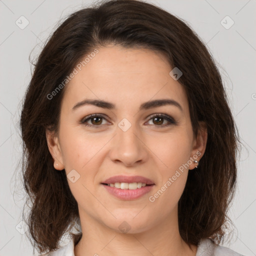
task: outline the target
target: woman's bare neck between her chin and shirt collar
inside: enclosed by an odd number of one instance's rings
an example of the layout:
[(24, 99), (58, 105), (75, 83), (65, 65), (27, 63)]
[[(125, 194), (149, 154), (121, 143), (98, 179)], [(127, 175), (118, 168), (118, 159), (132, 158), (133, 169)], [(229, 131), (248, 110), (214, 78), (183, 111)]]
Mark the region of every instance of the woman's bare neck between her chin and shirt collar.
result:
[[(197, 247), (182, 240), (176, 218), (166, 218), (161, 223), (141, 232), (121, 233), (98, 220), (81, 216), (82, 237), (74, 247), (75, 256), (195, 256)], [(176, 214), (177, 216), (177, 214)]]

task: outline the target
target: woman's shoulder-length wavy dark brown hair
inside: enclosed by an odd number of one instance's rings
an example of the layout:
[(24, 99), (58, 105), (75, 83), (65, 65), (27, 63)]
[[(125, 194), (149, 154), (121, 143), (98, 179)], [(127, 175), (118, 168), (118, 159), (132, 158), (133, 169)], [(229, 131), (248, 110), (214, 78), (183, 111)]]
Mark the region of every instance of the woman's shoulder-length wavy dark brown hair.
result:
[[(188, 172), (178, 201), (178, 225), (187, 244), (202, 238), (219, 244), (236, 184), (238, 135), (220, 73), (196, 33), (181, 19), (139, 0), (110, 0), (70, 14), (45, 43), (26, 90), (21, 118), (23, 185), (31, 202), (29, 227), (33, 247), (55, 250), (60, 238), (79, 223), (78, 207), (64, 171), (56, 171), (45, 130), (57, 133), (65, 87), (52, 93), (80, 59), (108, 43), (163, 53), (183, 75), (193, 132), (207, 127), (207, 144), (197, 169)], [(67, 85), (68, 86), (68, 85)], [(23, 209), (24, 210), (24, 209)], [(70, 233), (70, 232), (69, 232)], [(75, 244), (81, 234), (74, 234)]]

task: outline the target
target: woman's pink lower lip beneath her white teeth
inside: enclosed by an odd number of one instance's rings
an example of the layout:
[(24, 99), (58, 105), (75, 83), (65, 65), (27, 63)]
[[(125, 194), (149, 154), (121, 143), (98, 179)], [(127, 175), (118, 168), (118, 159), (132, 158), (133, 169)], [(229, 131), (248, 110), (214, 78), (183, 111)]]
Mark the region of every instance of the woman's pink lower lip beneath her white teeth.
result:
[(148, 185), (148, 186), (142, 186), (141, 188), (136, 188), (136, 189), (120, 189), (120, 188), (116, 188), (108, 185), (103, 185), (103, 186), (110, 194), (123, 200), (137, 199), (142, 195), (148, 193), (153, 187), (153, 185)]

